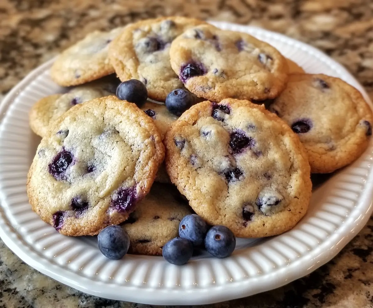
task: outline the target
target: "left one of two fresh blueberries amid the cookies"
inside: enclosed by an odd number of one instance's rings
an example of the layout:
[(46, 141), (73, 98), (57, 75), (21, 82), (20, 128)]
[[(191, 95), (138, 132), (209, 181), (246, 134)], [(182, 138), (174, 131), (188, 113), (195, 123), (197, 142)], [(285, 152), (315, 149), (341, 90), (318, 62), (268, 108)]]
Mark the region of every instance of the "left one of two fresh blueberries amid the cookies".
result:
[(130, 79), (119, 84), (116, 96), (122, 101), (135, 103), (140, 108), (148, 99), (148, 91), (140, 80)]

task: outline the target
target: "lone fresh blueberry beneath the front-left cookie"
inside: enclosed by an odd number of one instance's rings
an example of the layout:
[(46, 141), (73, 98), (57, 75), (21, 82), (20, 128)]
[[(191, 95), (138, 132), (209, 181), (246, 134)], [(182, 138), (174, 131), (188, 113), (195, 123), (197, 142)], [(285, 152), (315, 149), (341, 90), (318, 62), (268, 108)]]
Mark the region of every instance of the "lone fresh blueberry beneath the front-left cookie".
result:
[(107, 226), (97, 236), (98, 249), (112, 260), (121, 259), (128, 251), (129, 236), (120, 226)]

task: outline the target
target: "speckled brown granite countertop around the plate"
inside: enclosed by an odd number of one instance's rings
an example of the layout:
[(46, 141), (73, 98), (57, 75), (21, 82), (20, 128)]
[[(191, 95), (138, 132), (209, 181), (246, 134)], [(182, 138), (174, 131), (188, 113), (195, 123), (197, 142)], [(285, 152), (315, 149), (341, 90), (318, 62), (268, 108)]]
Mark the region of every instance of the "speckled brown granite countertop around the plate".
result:
[[(72, 4), (73, 3), (73, 4)], [(325, 51), (373, 99), (371, 0), (0, 0), (0, 99), (28, 72), (94, 29), (185, 15), (260, 26)], [(282, 288), (203, 307), (373, 307), (373, 219), (339, 255)], [(0, 308), (150, 307), (110, 301), (61, 285), (0, 240)]]

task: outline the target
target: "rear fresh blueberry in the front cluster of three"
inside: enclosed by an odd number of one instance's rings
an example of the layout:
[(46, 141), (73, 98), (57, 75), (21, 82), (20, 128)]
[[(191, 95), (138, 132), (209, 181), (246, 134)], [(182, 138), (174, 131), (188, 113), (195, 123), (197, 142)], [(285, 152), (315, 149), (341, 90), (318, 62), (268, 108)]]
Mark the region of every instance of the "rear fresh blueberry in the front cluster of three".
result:
[(179, 235), (193, 243), (194, 246), (203, 244), (208, 226), (197, 214), (186, 215), (180, 222)]

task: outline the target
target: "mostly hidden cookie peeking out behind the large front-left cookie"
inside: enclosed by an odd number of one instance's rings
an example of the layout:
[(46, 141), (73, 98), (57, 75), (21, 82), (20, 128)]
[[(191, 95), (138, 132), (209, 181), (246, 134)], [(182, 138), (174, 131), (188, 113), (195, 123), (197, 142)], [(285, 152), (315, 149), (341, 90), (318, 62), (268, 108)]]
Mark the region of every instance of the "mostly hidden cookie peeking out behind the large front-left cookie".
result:
[(29, 124), (35, 134), (44, 137), (51, 123), (76, 104), (115, 94), (119, 82), (112, 77), (76, 86), (65, 94), (47, 96), (37, 101), (29, 113)]

